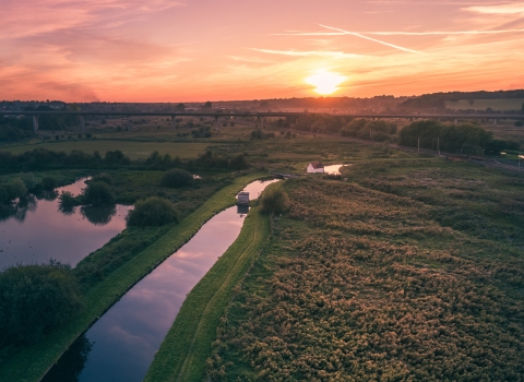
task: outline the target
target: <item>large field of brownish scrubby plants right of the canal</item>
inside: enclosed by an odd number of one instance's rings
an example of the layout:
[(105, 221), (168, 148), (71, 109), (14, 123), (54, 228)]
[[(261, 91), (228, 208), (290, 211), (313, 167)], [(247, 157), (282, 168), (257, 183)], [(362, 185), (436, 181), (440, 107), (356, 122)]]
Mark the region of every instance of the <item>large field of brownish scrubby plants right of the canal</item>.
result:
[(524, 378), (524, 178), (361, 163), (286, 181), (288, 215), (228, 303), (213, 381)]

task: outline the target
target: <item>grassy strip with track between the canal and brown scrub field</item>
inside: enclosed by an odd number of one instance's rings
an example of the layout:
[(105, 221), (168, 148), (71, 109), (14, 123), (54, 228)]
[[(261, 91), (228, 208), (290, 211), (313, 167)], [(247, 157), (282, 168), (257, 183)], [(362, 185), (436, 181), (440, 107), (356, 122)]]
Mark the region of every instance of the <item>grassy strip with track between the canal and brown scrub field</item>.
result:
[(205, 360), (234, 287), (270, 236), (266, 215), (253, 207), (238, 239), (186, 298), (145, 381), (202, 381)]

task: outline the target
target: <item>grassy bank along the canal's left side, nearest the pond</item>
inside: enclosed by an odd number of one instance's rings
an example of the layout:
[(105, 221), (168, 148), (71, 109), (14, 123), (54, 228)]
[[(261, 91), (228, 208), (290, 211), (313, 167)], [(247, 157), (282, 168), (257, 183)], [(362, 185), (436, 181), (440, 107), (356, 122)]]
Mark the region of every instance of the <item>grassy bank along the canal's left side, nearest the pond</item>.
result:
[(187, 242), (213, 215), (235, 203), (234, 195), (250, 181), (260, 178), (252, 174), (234, 182), (210, 198), (202, 206), (169, 229), (153, 244), (120, 265), (85, 294), (82, 312), (45, 341), (24, 348), (0, 366), (0, 381), (38, 381), (60, 358), (61, 354), (104, 314), (136, 282), (154, 270)]

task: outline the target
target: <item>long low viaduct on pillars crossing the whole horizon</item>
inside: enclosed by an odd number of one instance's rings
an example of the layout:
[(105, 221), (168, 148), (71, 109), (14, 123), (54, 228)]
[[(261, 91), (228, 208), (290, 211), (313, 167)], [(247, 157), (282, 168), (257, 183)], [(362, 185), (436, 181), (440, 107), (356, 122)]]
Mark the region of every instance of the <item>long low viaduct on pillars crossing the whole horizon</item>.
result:
[(176, 129), (176, 118), (178, 117), (207, 117), (215, 119), (215, 127), (219, 129), (219, 118), (233, 118), (233, 117), (253, 117), (257, 118), (257, 128), (262, 128), (263, 118), (287, 118), (287, 117), (306, 117), (313, 115), (333, 116), (333, 117), (353, 117), (353, 118), (371, 118), (371, 119), (488, 119), (493, 120), (497, 124), (497, 120), (512, 119), (524, 120), (524, 115), (501, 115), (501, 114), (485, 114), (485, 115), (438, 115), (438, 114), (326, 114), (326, 112), (291, 112), (291, 111), (266, 111), (266, 112), (249, 112), (249, 111), (227, 111), (227, 112), (212, 112), (212, 111), (191, 111), (191, 112), (155, 112), (155, 111), (0, 111), (4, 116), (27, 116), (33, 117), (33, 128), (38, 130), (38, 118), (41, 116), (79, 116), (82, 133), (85, 132), (85, 116), (99, 116), (99, 117), (126, 117), (127, 118), (127, 131), (131, 130), (132, 117), (169, 117), (171, 119), (171, 128)]

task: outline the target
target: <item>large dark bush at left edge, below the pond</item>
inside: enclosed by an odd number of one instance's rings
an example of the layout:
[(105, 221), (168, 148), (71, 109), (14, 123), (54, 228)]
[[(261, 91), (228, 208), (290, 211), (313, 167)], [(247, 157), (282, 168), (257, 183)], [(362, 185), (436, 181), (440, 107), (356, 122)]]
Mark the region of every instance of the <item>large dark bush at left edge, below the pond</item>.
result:
[(31, 344), (69, 320), (81, 295), (69, 265), (15, 265), (0, 273), (0, 348)]

